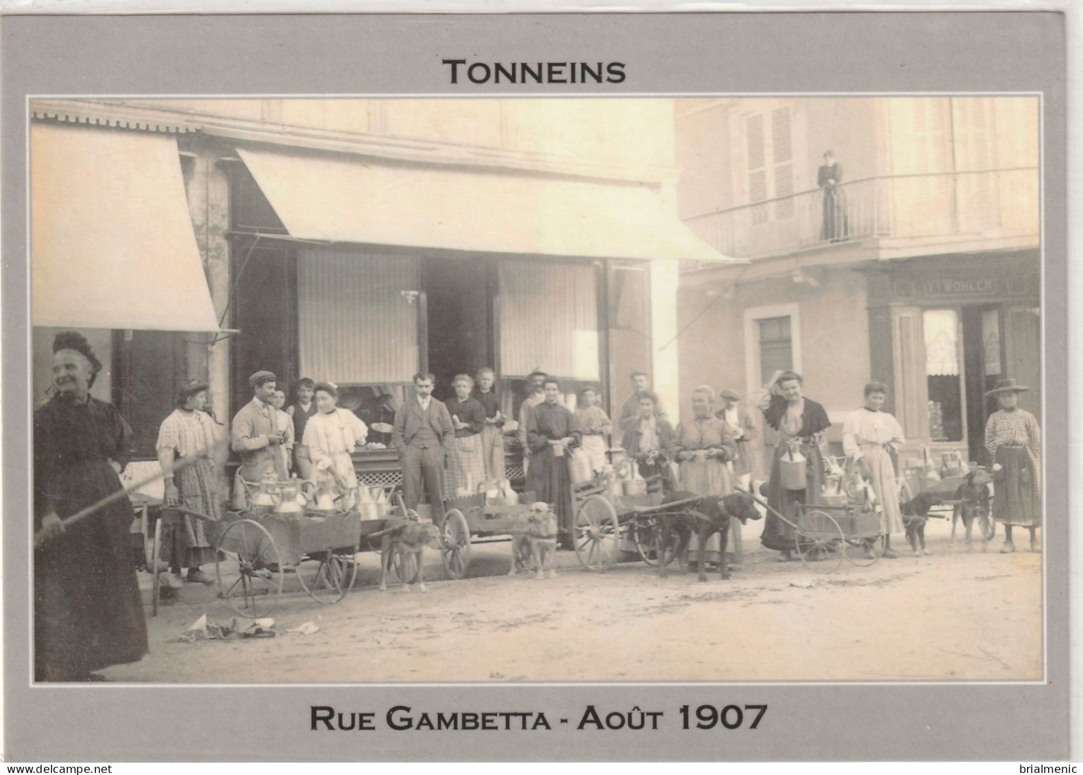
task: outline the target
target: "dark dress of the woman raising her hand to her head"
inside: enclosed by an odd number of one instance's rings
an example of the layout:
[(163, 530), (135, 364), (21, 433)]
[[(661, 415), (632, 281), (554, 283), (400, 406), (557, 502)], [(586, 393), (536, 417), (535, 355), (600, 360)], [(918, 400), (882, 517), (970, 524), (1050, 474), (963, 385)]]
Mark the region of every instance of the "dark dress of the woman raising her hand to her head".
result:
[[(788, 490), (782, 486), (782, 471), (779, 461), (786, 454), (787, 434), (782, 429), (782, 420), (786, 413), (786, 399), (780, 395), (771, 396), (771, 403), (764, 410), (764, 418), (767, 424), (777, 431), (782, 431), (782, 438), (774, 448), (774, 457), (771, 461), (771, 478), (767, 484), (767, 502), (772, 509), (784, 515), (794, 525), (799, 517), (798, 503), (817, 503), (823, 488), (823, 455), (820, 448), (812, 444), (811, 436), (814, 433), (826, 431), (831, 428), (831, 420), (827, 419), (827, 411), (814, 400), (805, 399), (805, 412), (801, 415), (801, 426), (796, 437), (799, 441), (801, 455), (806, 457), (808, 463), (806, 471), (808, 486), (800, 490)], [(764, 534), (760, 542), (768, 549), (777, 551), (793, 551), (796, 548), (796, 535), (794, 528), (787, 525), (770, 511), (764, 521)]]

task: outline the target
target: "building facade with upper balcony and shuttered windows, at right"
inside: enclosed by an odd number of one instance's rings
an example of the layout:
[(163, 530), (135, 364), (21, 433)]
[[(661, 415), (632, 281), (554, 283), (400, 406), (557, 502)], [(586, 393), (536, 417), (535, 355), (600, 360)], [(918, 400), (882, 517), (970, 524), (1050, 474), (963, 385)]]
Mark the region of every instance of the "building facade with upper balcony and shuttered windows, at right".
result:
[(681, 218), (751, 262), (682, 274), (683, 393), (793, 368), (837, 443), (877, 379), (909, 456), (974, 461), (997, 379), (1041, 416), (1038, 97), (681, 100), (676, 126)]

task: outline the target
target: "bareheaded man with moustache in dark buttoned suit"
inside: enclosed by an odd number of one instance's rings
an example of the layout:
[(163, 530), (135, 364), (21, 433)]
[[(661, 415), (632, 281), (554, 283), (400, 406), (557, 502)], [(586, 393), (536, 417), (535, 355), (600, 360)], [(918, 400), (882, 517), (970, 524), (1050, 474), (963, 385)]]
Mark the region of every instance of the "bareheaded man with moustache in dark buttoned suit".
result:
[(432, 521), (444, 521), (444, 454), (455, 437), (447, 407), (432, 397), (432, 375), (414, 375), (417, 396), (395, 412), (391, 446), (399, 452), (403, 470), (403, 497), (407, 509), (416, 509), (423, 491), (432, 507)]

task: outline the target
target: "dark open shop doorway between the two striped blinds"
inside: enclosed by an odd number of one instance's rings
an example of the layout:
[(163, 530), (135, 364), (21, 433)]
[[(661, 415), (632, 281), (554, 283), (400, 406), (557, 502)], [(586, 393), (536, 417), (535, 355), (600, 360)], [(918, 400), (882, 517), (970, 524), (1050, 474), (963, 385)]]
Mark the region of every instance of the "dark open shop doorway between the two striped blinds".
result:
[(455, 375), (471, 377), (493, 365), (493, 295), (496, 274), (479, 259), (422, 259), (428, 370), (441, 400), (455, 395)]

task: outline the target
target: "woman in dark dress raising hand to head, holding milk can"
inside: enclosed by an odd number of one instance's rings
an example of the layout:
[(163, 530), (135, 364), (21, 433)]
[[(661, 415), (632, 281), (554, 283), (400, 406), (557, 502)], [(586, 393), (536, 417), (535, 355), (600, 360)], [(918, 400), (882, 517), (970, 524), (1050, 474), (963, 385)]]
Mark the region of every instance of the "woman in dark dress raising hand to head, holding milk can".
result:
[[(771, 462), (771, 478), (767, 485), (767, 502), (794, 525), (799, 516), (798, 503), (817, 503), (823, 489), (823, 447), (826, 444), (824, 431), (831, 428), (827, 411), (814, 400), (801, 394), (804, 380), (795, 371), (778, 372), (768, 383), (767, 394), (759, 404), (767, 424), (780, 433), (779, 445), (774, 448)], [(793, 449), (805, 456), (806, 487), (791, 490), (782, 485), (781, 460)], [(770, 511), (764, 521), (760, 541), (768, 549), (782, 552), (782, 560), (790, 560), (796, 548), (794, 528)]]

